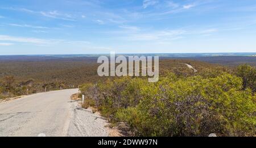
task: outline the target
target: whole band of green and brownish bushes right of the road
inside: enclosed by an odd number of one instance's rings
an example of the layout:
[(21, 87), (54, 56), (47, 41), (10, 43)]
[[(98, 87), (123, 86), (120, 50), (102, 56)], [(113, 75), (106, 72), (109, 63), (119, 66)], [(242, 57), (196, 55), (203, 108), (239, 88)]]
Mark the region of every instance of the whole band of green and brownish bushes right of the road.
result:
[(113, 125), (125, 123), (135, 136), (255, 136), (255, 67), (196, 69), (164, 69), (157, 83), (136, 77), (85, 83), (83, 106)]

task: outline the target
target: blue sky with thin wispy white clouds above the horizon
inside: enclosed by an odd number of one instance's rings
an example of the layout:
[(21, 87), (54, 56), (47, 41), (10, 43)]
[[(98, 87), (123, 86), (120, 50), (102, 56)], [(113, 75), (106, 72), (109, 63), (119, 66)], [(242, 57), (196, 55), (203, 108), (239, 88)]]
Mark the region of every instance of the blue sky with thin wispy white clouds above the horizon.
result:
[(110, 51), (256, 52), (256, 1), (0, 1), (0, 54)]

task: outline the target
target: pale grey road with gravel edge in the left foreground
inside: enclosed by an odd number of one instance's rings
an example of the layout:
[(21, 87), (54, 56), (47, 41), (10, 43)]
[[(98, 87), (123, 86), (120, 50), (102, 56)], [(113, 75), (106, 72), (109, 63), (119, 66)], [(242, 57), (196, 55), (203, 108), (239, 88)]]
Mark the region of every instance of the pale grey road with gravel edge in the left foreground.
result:
[(104, 118), (71, 101), (77, 92), (44, 92), (0, 104), (0, 136), (108, 136)]

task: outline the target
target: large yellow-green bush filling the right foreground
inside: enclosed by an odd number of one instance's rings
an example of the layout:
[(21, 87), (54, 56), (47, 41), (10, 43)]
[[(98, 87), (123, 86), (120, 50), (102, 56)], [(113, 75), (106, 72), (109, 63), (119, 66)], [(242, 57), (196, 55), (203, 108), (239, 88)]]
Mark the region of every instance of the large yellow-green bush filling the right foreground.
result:
[(117, 113), (139, 136), (245, 136), (255, 132), (255, 104), (240, 78), (191, 77), (143, 88), (135, 108)]

